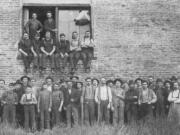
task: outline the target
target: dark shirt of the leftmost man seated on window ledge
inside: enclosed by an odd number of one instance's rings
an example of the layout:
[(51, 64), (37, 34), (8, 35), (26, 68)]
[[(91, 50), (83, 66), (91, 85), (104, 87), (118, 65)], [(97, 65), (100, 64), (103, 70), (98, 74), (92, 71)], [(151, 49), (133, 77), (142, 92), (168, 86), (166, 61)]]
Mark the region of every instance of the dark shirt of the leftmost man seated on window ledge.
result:
[(18, 49), (22, 49), (27, 54), (31, 53), (31, 40), (30, 39), (22, 39), (18, 43)]

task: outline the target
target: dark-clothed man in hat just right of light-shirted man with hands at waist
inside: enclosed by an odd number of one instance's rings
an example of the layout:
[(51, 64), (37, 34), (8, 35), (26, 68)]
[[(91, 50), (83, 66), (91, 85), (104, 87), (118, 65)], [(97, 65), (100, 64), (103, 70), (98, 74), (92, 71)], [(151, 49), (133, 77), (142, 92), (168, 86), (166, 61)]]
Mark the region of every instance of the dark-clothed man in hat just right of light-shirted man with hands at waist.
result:
[(162, 117), (165, 115), (164, 110), (164, 87), (163, 87), (163, 80), (161, 78), (158, 78), (156, 80), (156, 88), (154, 89), (154, 92), (157, 96), (157, 102), (155, 104), (155, 116), (156, 117)]

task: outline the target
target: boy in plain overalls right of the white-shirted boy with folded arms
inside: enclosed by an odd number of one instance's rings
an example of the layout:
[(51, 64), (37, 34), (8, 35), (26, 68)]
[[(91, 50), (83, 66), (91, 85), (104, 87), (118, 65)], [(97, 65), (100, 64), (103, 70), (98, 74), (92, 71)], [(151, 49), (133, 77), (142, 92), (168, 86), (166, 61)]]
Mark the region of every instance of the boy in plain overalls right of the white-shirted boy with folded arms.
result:
[(47, 88), (47, 84), (43, 84), (38, 97), (38, 113), (40, 113), (40, 128), (42, 130), (50, 129), (52, 92), (48, 91)]

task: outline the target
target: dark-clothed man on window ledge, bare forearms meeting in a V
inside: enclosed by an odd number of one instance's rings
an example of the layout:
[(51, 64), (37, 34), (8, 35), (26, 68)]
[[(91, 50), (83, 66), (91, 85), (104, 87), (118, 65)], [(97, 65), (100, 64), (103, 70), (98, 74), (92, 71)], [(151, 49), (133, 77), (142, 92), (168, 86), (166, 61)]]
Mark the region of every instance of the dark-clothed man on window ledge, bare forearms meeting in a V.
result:
[(56, 50), (56, 45), (54, 40), (51, 38), (51, 33), (49, 31), (45, 34), (45, 39), (42, 41), (41, 51), (43, 52), (40, 57), (40, 67), (46, 69), (47, 59), (50, 60), (51, 72), (54, 73), (55, 62), (54, 62), (54, 52)]

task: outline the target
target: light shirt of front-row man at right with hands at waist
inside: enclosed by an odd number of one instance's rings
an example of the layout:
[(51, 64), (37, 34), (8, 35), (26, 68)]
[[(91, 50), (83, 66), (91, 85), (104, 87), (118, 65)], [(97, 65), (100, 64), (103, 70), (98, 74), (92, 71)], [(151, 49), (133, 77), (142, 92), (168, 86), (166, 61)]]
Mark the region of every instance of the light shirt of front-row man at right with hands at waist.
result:
[(140, 91), (139, 103), (148, 103), (148, 102), (155, 103), (156, 101), (157, 101), (157, 96), (153, 90), (147, 89), (147, 90)]

